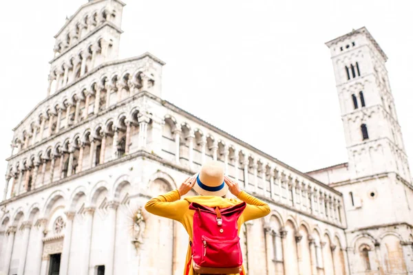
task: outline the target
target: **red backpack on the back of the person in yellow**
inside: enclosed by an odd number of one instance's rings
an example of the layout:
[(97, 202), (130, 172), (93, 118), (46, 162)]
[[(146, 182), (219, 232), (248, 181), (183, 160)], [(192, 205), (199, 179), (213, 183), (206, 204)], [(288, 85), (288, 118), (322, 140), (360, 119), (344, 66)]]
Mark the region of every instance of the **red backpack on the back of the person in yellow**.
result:
[[(192, 265), (198, 274), (242, 274), (237, 221), (246, 203), (211, 208), (191, 203), (193, 214)], [(187, 274), (190, 265), (187, 266)], [(242, 274), (243, 275), (243, 274)]]

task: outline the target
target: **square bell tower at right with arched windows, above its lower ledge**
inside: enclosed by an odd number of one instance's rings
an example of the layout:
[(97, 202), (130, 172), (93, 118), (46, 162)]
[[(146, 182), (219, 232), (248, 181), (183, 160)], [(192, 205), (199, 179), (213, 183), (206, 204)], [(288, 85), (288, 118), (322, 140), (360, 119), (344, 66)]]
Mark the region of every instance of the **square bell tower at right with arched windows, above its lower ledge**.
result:
[(366, 28), (329, 41), (348, 151), (350, 179), (410, 169), (385, 62)]

